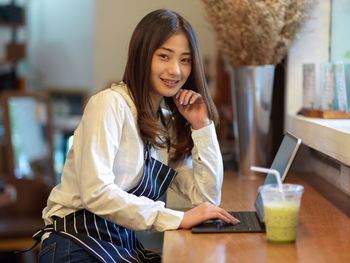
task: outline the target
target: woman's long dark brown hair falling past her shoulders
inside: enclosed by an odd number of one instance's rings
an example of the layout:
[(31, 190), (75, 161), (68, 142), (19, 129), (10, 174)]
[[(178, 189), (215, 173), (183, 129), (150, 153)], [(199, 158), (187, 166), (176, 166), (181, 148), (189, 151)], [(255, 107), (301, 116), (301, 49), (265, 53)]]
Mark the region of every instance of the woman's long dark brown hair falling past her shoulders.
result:
[[(149, 95), (151, 63), (154, 52), (178, 32), (183, 32), (187, 36), (192, 53), (191, 73), (182, 88), (201, 94), (207, 105), (209, 118), (215, 124), (218, 121), (216, 107), (208, 92), (198, 41), (192, 26), (176, 12), (166, 9), (153, 11), (146, 15), (134, 30), (123, 81), (128, 86), (137, 108), (137, 123), (142, 140), (151, 141), (153, 145), (160, 147), (165, 146), (165, 142), (160, 138), (166, 131), (158, 124), (158, 116), (154, 116), (152, 111)], [(165, 103), (172, 113), (172, 118), (169, 118), (166, 126), (173, 127), (175, 131), (175, 140), (171, 141), (175, 154), (171, 159), (177, 161), (191, 154), (193, 141), (190, 124), (179, 113), (172, 98), (166, 97)]]

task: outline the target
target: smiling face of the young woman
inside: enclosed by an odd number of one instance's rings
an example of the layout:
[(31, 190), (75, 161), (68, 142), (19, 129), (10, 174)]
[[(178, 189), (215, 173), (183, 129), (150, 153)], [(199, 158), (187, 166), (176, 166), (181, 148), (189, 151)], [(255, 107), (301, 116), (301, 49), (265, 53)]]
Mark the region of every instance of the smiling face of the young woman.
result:
[(150, 97), (158, 108), (163, 97), (174, 96), (191, 73), (191, 49), (183, 32), (172, 35), (153, 54)]

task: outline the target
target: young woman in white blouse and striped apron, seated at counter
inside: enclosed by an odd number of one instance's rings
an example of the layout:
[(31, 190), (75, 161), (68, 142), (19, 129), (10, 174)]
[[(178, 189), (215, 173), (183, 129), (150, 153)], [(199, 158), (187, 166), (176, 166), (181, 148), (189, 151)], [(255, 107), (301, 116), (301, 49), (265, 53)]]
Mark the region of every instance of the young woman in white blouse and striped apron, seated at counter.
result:
[[(217, 207), (223, 179), (195, 33), (157, 10), (137, 25), (123, 82), (92, 96), (74, 133), (61, 183), (43, 211), (40, 262), (159, 262), (134, 231), (237, 223)], [(157, 201), (168, 187), (196, 205)]]

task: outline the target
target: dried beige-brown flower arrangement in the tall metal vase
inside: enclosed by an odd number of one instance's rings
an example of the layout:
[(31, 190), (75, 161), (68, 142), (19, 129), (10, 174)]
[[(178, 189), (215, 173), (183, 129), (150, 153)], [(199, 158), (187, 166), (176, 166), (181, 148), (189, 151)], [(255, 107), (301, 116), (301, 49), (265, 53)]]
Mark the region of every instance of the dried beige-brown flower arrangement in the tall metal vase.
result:
[(202, 0), (232, 66), (276, 65), (317, 0)]

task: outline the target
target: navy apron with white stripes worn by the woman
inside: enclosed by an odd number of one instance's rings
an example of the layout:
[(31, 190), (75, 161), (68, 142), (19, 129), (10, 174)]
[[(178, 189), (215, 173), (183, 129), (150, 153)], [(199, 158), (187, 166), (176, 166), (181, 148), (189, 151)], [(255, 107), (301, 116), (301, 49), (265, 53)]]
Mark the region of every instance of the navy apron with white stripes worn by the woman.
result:
[[(161, 197), (177, 172), (150, 155), (151, 144), (145, 151), (144, 172), (137, 186), (128, 191), (136, 196), (153, 200)], [(44, 232), (54, 231), (64, 235), (101, 262), (160, 262), (160, 255), (145, 249), (137, 240), (135, 232), (114, 224), (85, 209), (63, 218), (53, 216), (48, 225), (33, 235), (39, 240)]]

